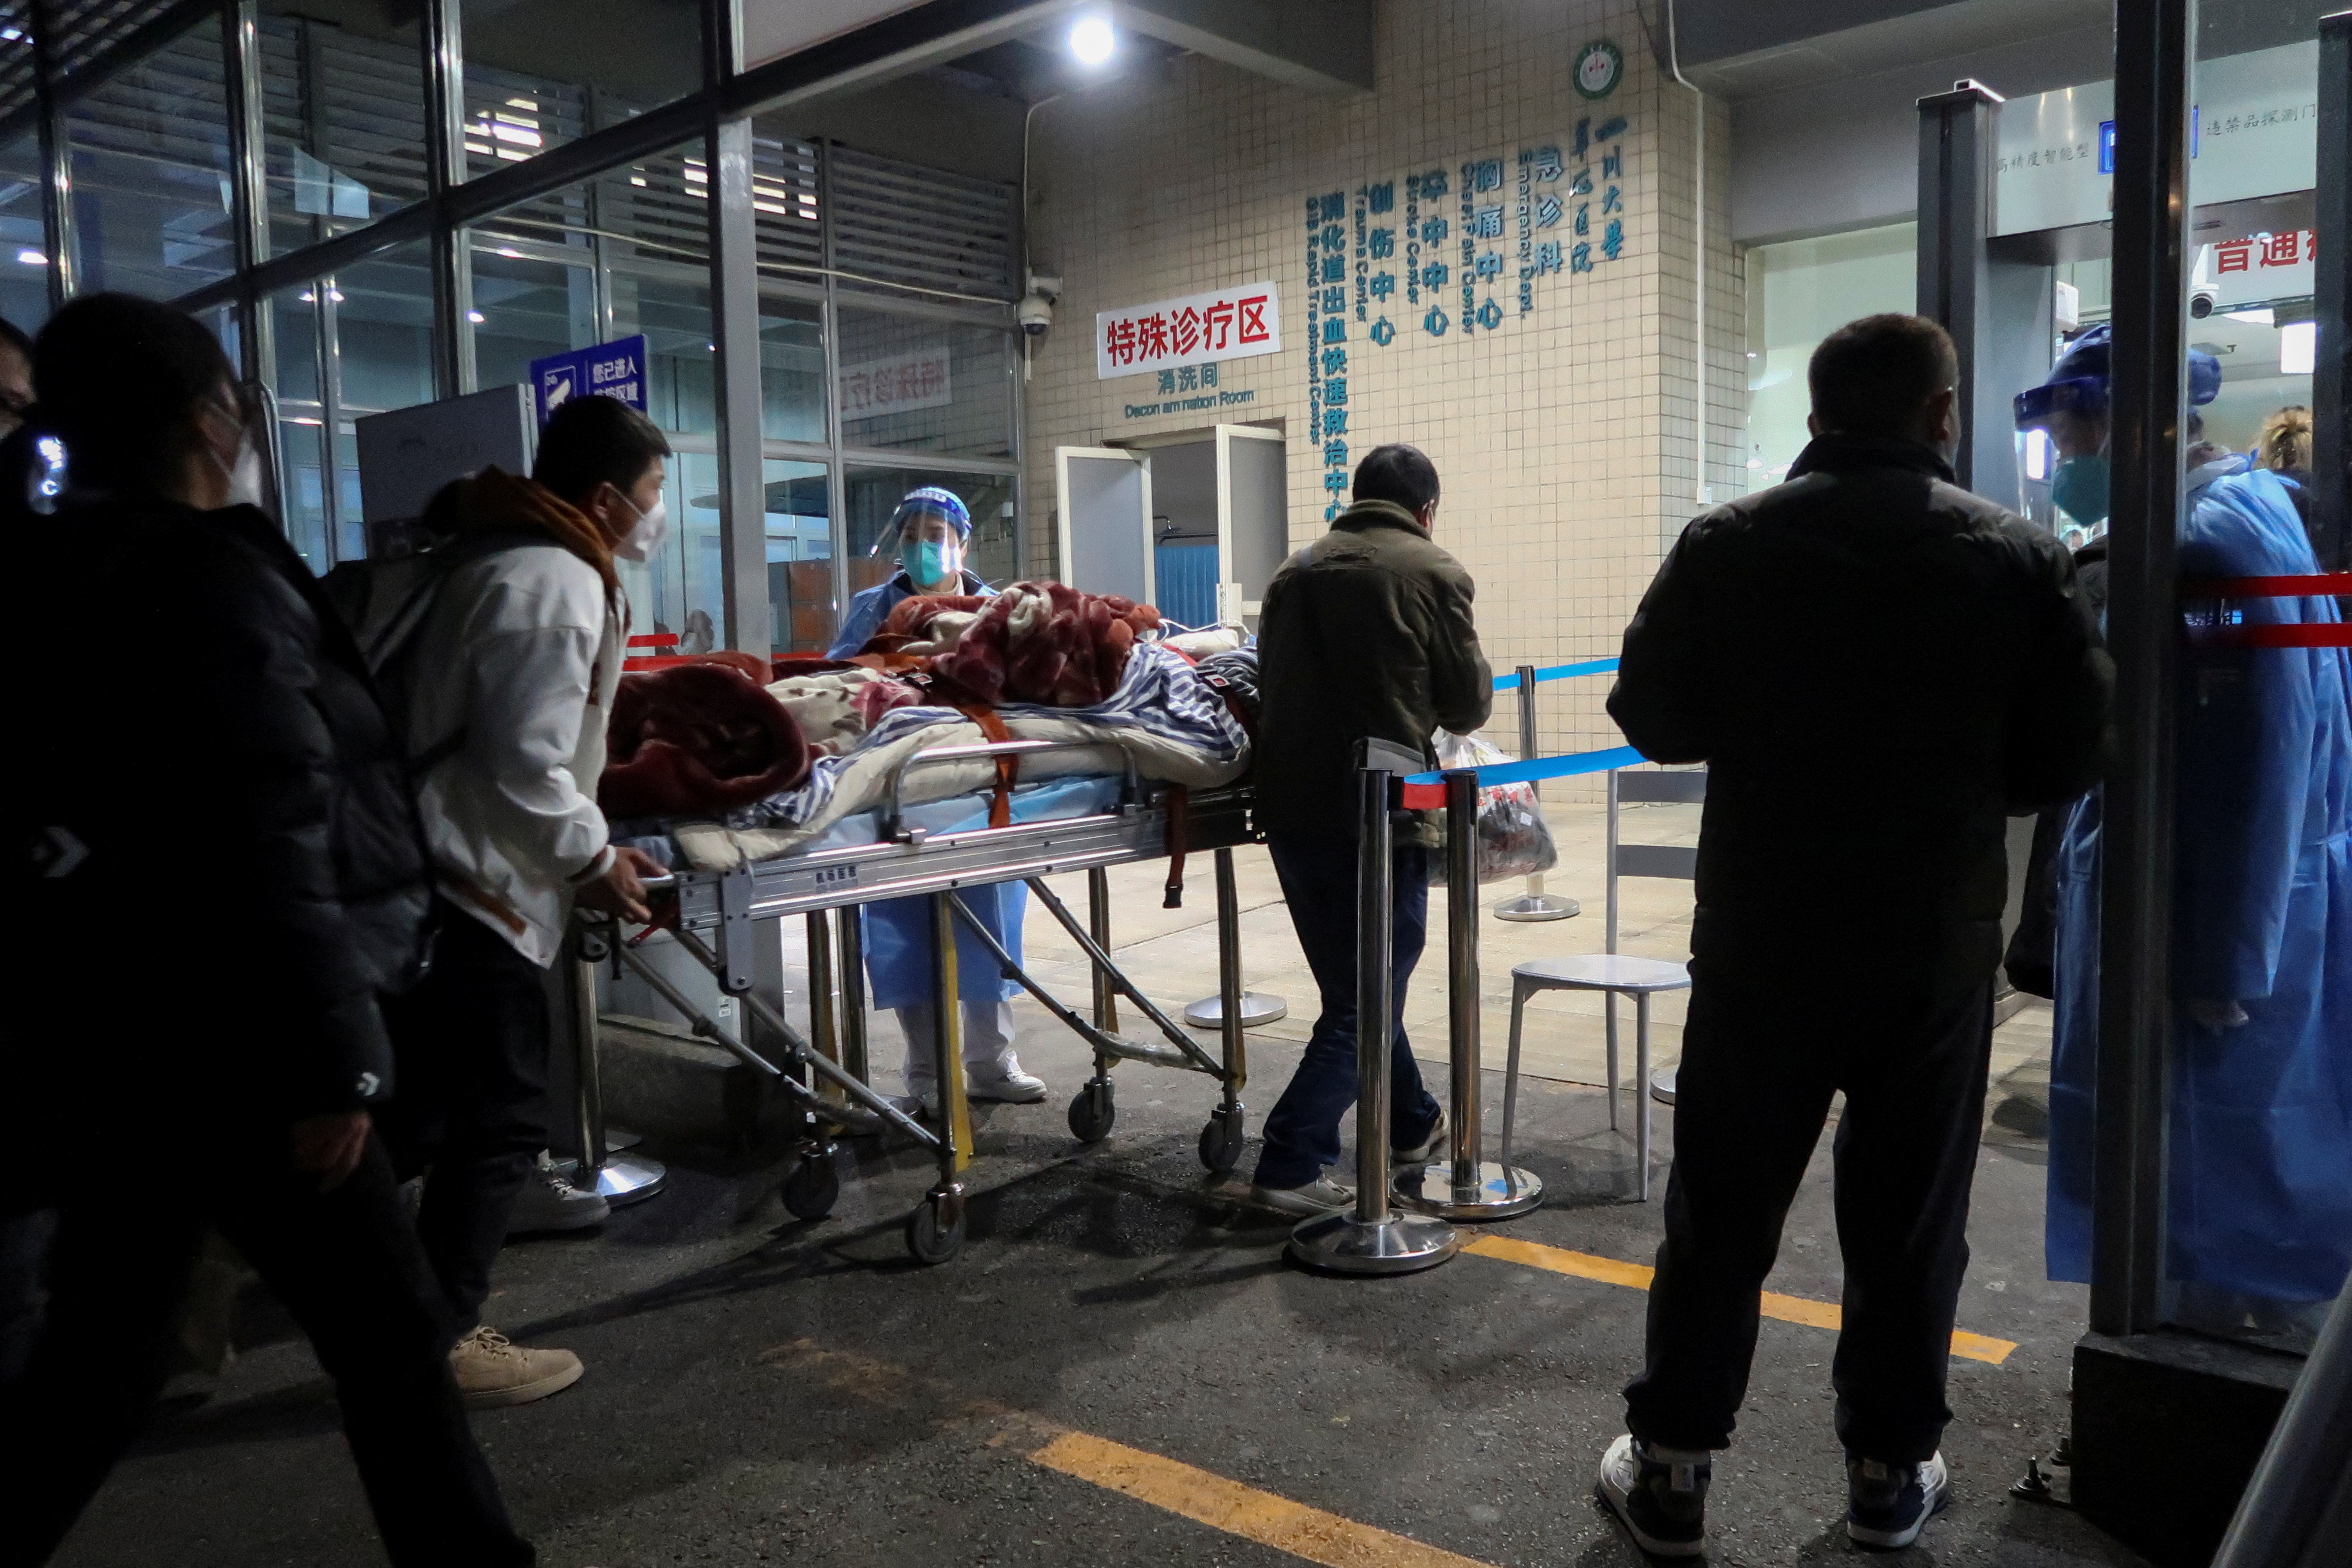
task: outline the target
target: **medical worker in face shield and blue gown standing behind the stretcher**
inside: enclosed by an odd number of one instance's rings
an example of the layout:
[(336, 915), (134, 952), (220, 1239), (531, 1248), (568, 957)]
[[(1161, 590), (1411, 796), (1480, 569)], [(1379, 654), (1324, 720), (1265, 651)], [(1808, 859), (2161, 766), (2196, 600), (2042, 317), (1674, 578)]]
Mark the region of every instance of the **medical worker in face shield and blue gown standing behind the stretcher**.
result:
[[(842, 635), (833, 639), (828, 654), (849, 658), (863, 649), (901, 599), (924, 592), (993, 595), (988, 583), (964, 571), (969, 541), (971, 512), (962, 496), (936, 484), (913, 491), (891, 512), (882, 538), (875, 541), (875, 550), (891, 543), (898, 548), (898, 576), (849, 602)], [(962, 825), (985, 825), (985, 809), (976, 811), (976, 820)], [(964, 905), (988, 926), (988, 933), (1018, 959), (1028, 891), (1011, 882), (962, 889), (962, 893)], [(931, 1032), (938, 1020), (931, 1016), (931, 903), (927, 898), (891, 898), (863, 905), (863, 926), (866, 973), (873, 980), (875, 1006), (894, 1009), (898, 1027), (906, 1030), (906, 1093), (924, 1112), (936, 1112), (938, 1070)], [(962, 926), (955, 931), (955, 976), (964, 1004), (969, 1098), (1014, 1105), (1044, 1100), (1044, 1079), (1021, 1072), (1021, 1058), (1014, 1056), (1014, 1011), (1009, 1006), (1014, 983), (1000, 976), (995, 957)]]

